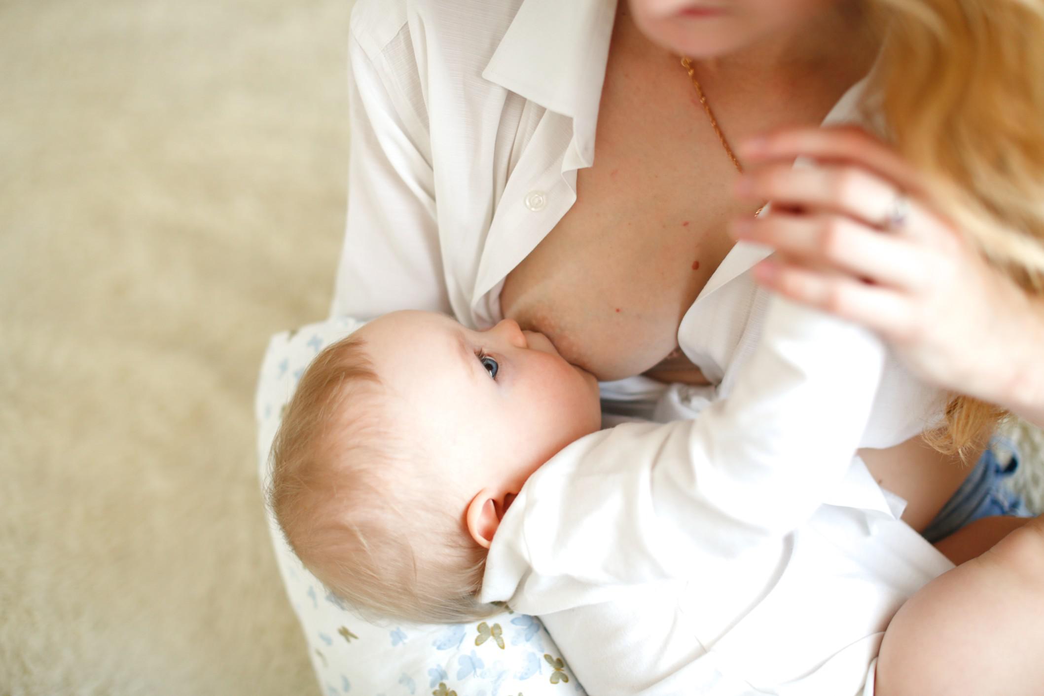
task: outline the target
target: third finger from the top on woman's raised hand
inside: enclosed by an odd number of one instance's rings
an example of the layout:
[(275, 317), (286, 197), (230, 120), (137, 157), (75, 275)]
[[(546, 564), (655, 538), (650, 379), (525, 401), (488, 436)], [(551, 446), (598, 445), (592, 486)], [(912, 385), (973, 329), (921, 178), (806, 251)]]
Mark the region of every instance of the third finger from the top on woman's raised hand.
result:
[(925, 283), (920, 248), (847, 217), (774, 212), (763, 218), (738, 220), (733, 232), (739, 239), (772, 246), (805, 264), (880, 285), (916, 292)]

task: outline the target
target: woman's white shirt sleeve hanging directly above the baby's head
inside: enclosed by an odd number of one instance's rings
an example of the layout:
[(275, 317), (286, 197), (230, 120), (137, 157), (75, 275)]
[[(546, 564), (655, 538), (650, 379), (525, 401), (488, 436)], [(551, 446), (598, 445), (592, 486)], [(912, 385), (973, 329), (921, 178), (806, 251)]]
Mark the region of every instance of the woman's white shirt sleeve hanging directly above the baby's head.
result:
[(449, 312), (427, 121), (407, 96), (420, 94), (417, 65), (370, 55), (354, 35), (349, 55), (348, 221), (332, 314)]

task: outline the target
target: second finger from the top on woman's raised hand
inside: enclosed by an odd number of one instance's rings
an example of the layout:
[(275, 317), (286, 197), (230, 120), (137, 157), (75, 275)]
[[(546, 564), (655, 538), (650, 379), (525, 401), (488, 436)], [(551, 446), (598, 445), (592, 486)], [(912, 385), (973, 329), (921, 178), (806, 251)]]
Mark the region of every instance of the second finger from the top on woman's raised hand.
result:
[(750, 200), (770, 200), (776, 207), (847, 215), (881, 229), (894, 222), (898, 205), (904, 213), (903, 234), (923, 238), (936, 226), (920, 201), (854, 166), (773, 163), (744, 173), (736, 183), (736, 193)]

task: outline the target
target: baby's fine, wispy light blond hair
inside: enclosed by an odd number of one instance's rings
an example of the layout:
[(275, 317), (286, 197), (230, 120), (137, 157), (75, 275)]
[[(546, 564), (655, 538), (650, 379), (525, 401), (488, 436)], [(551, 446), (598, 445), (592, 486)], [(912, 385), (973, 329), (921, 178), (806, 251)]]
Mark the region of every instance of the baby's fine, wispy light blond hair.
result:
[(487, 551), (398, 432), (393, 394), (358, 336), (319, 353), (284, 410), (267, 500), (290, 548), (374, 618), (457, 623), (499, 610), (477, 596)]

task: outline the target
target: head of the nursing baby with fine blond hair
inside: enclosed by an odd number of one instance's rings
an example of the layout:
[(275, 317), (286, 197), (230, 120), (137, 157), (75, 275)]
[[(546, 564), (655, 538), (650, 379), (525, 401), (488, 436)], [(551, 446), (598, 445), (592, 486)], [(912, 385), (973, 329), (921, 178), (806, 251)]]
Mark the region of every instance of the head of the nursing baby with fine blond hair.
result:
[(487, 551), (526, 479), (599, 427), (594, 377), (543, 334), (395, 312), (305, 370), (269, 502), (305, 566), (355, 606), (465, 621), (491, 614)]

